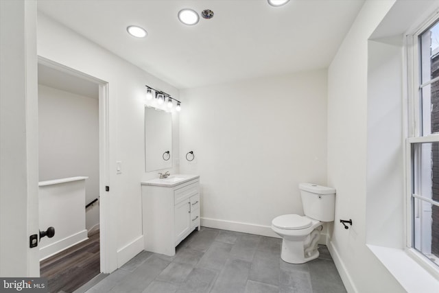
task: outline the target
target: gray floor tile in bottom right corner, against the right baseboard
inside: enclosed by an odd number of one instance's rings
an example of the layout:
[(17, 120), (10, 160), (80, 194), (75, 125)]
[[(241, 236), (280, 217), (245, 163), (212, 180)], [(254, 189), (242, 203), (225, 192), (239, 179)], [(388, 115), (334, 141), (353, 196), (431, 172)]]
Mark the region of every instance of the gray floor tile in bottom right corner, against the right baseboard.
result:
[(314, 259), (308, 262), (311, 274), (311, 284), (314, 293), (343, 293), (346, 292), (340, 274), (333, 261)]

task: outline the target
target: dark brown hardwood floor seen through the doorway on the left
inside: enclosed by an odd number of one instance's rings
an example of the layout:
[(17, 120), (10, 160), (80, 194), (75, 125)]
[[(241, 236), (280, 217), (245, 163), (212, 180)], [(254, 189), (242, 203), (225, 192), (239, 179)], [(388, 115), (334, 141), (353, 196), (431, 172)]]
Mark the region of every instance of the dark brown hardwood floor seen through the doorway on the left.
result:
[(99, 230), (86, 241), (40, 261), (40, 274), (47, 278), (49, 292), (73, 292), (99, 272)]

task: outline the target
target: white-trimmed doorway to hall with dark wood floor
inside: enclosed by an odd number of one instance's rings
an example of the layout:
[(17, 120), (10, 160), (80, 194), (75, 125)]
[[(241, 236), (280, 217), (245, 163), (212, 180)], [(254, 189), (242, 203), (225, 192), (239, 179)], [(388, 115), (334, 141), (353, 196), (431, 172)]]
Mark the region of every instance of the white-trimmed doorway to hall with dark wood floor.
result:
[[(40, 274), (47, 277), (50, 292), (73, 292), (105, 271), (105, 204), (100, 199), (108, 182), (107, 87), (102, 80), (38, 58), (39, 181), (62, 181), (56, 188), (65, 199), (40, 206), (40, 219), (55, 210), (51, 225), (59, 235), (40, 242)], [(71, 213), (73, 207), (79, 207), (78, 213)], [(46, 228), (40, 224), (41, 231)]]

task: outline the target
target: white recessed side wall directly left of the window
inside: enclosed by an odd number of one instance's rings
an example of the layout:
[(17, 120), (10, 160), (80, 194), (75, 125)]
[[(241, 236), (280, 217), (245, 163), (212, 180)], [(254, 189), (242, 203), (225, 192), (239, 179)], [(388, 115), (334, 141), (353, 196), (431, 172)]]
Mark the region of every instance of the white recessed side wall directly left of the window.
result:
[(385, 41), (368, 45), (366, 240), (403, 248), (403, 36)]

